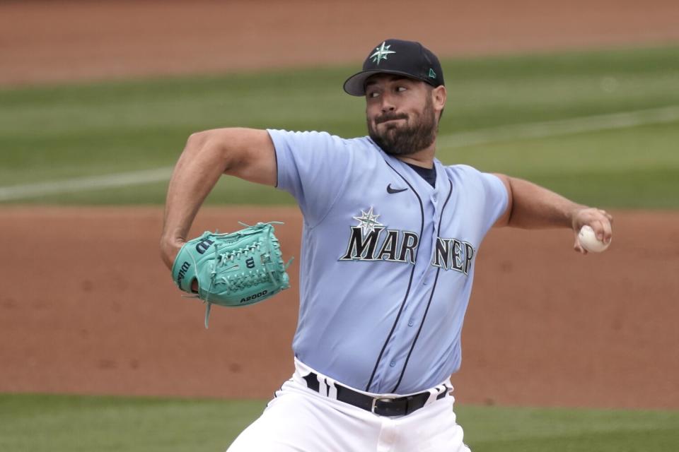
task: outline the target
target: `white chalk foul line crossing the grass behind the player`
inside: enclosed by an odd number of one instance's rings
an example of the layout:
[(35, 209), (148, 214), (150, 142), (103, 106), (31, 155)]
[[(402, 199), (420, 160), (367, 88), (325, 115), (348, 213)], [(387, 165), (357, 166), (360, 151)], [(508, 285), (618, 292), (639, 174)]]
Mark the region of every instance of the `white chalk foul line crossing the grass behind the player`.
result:
[[(548, 136), (569, 135), (590, 131), (625, 129), (646, 124), (664, 124), (679, 121), (679, 106), (637, 110), (614, 114), (600, 114), (590, 117), (562, 119), (559, 121), (535, 122), (510, 126), (492, 127), (469, 132), (449, 133), (439, 136), (437, 146), (442, 148), (463, 148), (465, 146), (497, 143), (499, 141), (525, 140)], [(146, 169), (143, 171), (103, 174), (92, 177), (78, 177), (34, 184), (0, 186), (0, 202), (18, 199), (39, 198), (55, 194), (76, 193), (98, 189), (112, 189), (166, 182), (172, 174), (172, 167)]]

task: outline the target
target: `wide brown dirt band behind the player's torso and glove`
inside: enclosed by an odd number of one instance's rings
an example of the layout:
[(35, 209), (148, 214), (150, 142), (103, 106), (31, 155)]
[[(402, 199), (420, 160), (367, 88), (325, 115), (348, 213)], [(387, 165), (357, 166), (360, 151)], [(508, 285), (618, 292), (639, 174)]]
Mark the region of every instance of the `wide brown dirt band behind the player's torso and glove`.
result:
[[(209, 208), (193, 234), (265, 216), (299, 256), (296, 208)], [(292, 288), (212, 311), (158, 258), (160, 208), (4, 208), (0, 391), (268, 398), (289, 378)], [(679, 213), (615, 213), (608, 251), (493, 230), (478, 255), (458, 400), (679, 408)], [(11, 266), (8, 263), (11, 262)], [(328, 294), (331, 296), (331, 294)]]

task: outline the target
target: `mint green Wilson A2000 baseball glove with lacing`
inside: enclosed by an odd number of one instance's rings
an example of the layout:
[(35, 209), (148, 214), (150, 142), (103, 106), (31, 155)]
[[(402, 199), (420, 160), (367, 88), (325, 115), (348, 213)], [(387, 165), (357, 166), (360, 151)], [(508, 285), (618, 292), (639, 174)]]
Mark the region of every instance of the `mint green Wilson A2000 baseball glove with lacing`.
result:
[[(172, 278), (184, 292), (207, 303), (205, 328), (212, 304), (237, 307), (262, 302), (290, 287), (272, 223), (231, 234), (204, 232), (186, 242), (172, 266)], [(278, 223), (282, 224), (282, 223)], [(198, 291), (192, 290), (194, 281)]]

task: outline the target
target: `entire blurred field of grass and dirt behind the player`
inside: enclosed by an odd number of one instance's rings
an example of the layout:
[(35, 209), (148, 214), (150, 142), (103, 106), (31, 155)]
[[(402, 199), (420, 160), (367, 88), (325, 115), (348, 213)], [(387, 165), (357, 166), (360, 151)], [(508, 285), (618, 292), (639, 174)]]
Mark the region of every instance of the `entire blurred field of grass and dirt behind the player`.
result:
[[(0, 2), (0, 450), (224, 450), (292, 369), (298, 291), (182, 299), (158, 258), (186, 138), (366, 133), (388, 37), (442, 60), (438, 157), (615, 214), (610, 250), (493, 231), (453, 376), (474, 451), (679, 450), (679, 4)], [(301, 216), (224, 179), (192, 232)], [(291, 280), (298, 265), (291, 267)], [(122, 432), (128, 432), (122, 434)]]

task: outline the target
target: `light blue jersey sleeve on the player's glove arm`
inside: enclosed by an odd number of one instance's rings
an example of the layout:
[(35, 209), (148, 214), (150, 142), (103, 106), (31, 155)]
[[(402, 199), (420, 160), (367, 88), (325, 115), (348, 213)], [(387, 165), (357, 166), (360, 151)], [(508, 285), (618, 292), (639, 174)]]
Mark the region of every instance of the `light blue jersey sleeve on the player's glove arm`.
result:
[(352, 153), (346, 141), (326, 132), (267, 130), (276, 150), (277, 188), (297, 200), (312, 227), (344, 189)]

